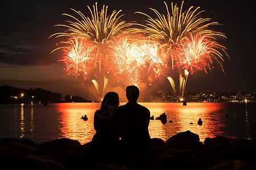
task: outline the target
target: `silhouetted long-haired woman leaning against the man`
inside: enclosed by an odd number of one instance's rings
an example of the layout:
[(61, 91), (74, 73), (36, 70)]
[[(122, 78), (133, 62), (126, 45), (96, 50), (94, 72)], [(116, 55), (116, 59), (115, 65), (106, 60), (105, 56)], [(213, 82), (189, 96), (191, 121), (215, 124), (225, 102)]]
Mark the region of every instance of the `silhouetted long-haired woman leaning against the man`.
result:
[(108, 92), (101, 107), (94, 113), (94, 129), (90, 146), (100, 150), (112, 150), (119, 147), (118, 114), (119, 97), (116, 92)]

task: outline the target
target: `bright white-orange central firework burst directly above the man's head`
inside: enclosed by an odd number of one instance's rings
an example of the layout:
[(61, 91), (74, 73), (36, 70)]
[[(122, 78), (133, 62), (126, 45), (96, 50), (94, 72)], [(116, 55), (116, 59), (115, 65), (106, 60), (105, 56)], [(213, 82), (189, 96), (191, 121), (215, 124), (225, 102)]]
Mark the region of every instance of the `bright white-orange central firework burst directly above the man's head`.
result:
[(139, 39), (123, 37), (113, 40), (112, 69), (115, 75), (129, 73), (129, 83), (139, 86), (141, 74), (145, 69), (153, 74), (155, 79), (164, 75), (166, 67), (159, 56), (160, 44), (143, 36)]

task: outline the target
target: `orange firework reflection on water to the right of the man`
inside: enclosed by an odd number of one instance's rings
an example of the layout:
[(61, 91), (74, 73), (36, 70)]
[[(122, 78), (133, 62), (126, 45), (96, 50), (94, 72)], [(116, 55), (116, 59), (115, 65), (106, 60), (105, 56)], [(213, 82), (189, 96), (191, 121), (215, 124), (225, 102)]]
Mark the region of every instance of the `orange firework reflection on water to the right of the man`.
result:
[[(183, 106), (182, 103), (141, 103), (150, 109), (151, 116), (158, 117), (165, 112), (167, 114), (167, 123), (162, 124), (159, 120), (150, 120), (148, 130), (151, 138), (162, 138), (166, 141), (168, 138), (181, 131), (191, 131), (199, 135), (200, 141), (204, 142), (207, 137), (213, 138), (216, 135), (223, 135), (221, 128), (227, 126), (223, 122), (223, 115), (218, 115), (219, 104), (211, 103), (188, 103)], [(157, 105), (157, 107), (154, 107)], [(202, 125), (197, 121), (201, 118)], [(169, 121), (172, 121), (169, 122)], [(192, 123), (192, 124), (191, 124)]]

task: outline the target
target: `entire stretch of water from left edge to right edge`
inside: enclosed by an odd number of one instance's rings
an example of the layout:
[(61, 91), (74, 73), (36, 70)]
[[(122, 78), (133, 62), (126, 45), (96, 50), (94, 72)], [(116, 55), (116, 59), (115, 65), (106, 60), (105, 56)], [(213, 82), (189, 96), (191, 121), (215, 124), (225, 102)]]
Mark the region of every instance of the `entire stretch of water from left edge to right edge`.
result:
[[(166, 141), (172, 135), (190, 130), (199, 135), (201, 142), (216, 135), (256, 141), (255, 103), (141, 104), (150, 110), (151, 116), (167, 114), (166, 124), (150, 120), (148, 130), (151, 138)], [(99, 107), (100, 103), (0, 105), (0, 138), (22, 138), (42, 143), (65, 137), (84, 144), (90, 142), (95, 134), (93, 114)], [(81, 119), (84, 114), (88, 121)], [(225, 114), (229, 117), (226, 118)], [(201, 126), (197, 125), (199, 118), (203, 120)], [(168, 122), (170, 120), (173, 122)]]

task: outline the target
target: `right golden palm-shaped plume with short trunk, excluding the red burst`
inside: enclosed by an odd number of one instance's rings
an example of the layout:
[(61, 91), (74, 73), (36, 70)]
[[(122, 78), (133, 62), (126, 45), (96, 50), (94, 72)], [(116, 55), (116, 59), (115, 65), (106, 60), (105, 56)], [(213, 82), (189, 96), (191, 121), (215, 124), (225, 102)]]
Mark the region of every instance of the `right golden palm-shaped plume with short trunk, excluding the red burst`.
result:
[[(173, 66), (172, 49), (174, 48), (175, 43), (183, 40), (188, 32), (193, 32), (195, 35), (204, 35), (205, 37), (214, 40), (216, 37), (225, 38), (223, 33), (208, 29), (212, 25), (218, 25), (218, 23), (211, 22), (210, 18), (201, 17), (200, 15), (204, 11), (199, 11), (200, 7), (194, 9), (192, 6), (187, 11), (183, 12), (183, 2), (181, 3), (180, 8), (176, 4), (174, 5), (174, 3), (171, 3), (171, 12), (167, 3), (164, 2), (167, 15), (161, 15), (154, 8), (150, 8), (155, 12), (157, 16), (156, 19), (153, 19), (143, 12), (137, 12), (138, 14), (147, 16), (146, 24), (135, 23), (135, 25), (144, 27), (144, 29), (130, 29), (130, 31), (134, 33), (146, 33), (148, 37), (160, 42), (162, 47), (165, 48), (165, 57), (169, 57), (167, 65), (171, 66)], [(221, 45), (219, 46), (223, 47)]]

